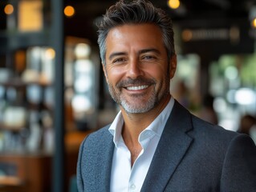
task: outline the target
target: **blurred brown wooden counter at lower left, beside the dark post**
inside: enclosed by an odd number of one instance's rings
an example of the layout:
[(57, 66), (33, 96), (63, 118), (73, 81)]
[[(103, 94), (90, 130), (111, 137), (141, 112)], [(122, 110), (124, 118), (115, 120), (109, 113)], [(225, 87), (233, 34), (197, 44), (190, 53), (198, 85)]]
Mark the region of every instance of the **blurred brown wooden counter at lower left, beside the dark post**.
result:
[(17, 169), (15, 175), (0, 177), (0, 191), (51, 191), (51, 162), (52, 156), (47, 154), (0, 154), (0, 163)]

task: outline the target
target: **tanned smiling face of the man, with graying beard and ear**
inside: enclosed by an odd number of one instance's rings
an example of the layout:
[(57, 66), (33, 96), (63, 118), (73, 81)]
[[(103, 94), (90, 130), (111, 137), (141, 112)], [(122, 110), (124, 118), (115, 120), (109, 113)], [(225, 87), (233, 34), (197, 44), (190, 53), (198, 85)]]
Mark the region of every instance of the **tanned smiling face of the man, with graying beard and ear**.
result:
[(176, 58), (168, 61), (161, 29), (124, 25), (109, 31), (104, 74), (112, 98), (128, 113), (144, 113), (167, 99)]

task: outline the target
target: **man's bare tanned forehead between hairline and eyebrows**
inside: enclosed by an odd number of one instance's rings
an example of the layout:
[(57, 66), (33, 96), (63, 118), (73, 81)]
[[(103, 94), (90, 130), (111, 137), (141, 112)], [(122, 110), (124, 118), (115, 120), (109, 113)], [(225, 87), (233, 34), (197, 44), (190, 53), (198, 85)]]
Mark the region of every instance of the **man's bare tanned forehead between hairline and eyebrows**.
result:
[(126, 24), (116, 26), (108, 32), (106, 48), (108, 51), (140, 49), (164, 46), (161, 28), (155, 24)]

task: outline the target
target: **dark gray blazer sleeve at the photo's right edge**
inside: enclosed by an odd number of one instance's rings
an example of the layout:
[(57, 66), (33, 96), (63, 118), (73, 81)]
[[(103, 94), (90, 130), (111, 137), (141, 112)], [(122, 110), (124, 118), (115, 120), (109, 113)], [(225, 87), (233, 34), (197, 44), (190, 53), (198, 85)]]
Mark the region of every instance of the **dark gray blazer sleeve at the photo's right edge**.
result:
[(256, 146), (238, 134), (228, 147), (221, 173), (221, 191), (256, 191)]

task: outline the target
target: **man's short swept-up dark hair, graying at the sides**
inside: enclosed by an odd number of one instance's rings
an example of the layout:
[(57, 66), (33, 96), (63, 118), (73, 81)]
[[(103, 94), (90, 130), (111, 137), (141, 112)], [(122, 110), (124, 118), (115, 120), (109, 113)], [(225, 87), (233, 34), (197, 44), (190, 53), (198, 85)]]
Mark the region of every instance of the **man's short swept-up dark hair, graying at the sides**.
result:
[(161, 28), (165, 49), (169, 60), (175, 54), (174, 33), (172, 19), (164, 10), (153, 6), (148, 0), (120, 0), (110, 6), (103, 15), (98, 26), (98, 44), (100, 46), (100, 58), (105, 65), (106, 60), (106, 38), (109, 30), (116, 26), (125, 24), (152, 23)]

